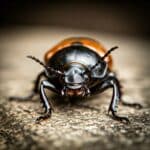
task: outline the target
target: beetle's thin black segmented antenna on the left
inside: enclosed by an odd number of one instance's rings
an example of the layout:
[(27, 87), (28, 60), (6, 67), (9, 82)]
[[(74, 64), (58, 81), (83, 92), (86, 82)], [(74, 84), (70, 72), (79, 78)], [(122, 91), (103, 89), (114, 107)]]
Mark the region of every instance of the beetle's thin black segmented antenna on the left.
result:
[(57, 74), (60, 74), (60, 75), (64, 75), (63, 72), (59, 71), (59, 70), (55, 70), (53, 69), (52, 67), (49, 67), (49, 66), (46, 66), (42, 61), (40, 61), (38, 58), (34, 57), (34, 56), (27, 56), (27, 58), (30, 58), (34, 61), (36, 61), (37, 63), (39, 63), (41, 66), (43, 66), (46, 70), (50, 70), (51, 72), (54, 72), (54, 73), (57, 73)]

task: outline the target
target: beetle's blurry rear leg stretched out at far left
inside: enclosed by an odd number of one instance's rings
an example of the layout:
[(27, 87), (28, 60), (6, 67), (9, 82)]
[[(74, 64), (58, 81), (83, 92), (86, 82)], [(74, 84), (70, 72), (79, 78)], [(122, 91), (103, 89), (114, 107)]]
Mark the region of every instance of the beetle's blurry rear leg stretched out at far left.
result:
[(45, 76), (44, 71), (42, 71), (41, 73), (38, 74), (38, 76), (35, 80), (35, 83), (34, 83), (34, 88), (32, 89), (32, 91), (29, 95), (24, 96), (24, 97), (11, 96), (11, 97), (9, 97), (9, 100), (29, 100), (29, 99), (33, 98), (38, 93), (39, 82), (43, 76)]

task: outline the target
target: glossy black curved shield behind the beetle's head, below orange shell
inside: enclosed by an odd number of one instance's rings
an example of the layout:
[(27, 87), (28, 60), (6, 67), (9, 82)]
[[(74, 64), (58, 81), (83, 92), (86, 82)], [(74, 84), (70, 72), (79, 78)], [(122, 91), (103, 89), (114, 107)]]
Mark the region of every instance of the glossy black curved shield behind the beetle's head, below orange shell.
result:
[(84, 46), (70, 46), (55, 53), (48, 61), (48, 66), (62, 70), (66, 64), (77, 62), (89, 68), (98, 60), (101, 60), (101, 57), (91, 49)]

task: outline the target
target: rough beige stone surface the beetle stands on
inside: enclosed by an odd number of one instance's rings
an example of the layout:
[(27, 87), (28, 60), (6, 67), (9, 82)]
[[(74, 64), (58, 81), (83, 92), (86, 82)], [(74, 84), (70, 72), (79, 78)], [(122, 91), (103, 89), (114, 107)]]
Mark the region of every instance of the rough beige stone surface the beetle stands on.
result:
[[(8, 101), (12, 95), (26, 95), (32, 80), (42, 69), (26, 59), (40, 59), (52, 45), (70, 36), (89, 36), (113, 53), (114, 70), (124, 87), (123, 98), (139, 102), (143, 109), (119, 105), (118, 114), (128, 116), (131, 124), (117, 122), (107, 114), (111, 90), (70, 105), (49, 94), (55, 106), (51, 119), (36, 123), (42, 112), (39, 97), (29, 101)], [(0, 30), (0, 149), (140, 149), (150, 146), (150, 44), (146, 39), (87, 31), (45, 27), (18, 27)]]

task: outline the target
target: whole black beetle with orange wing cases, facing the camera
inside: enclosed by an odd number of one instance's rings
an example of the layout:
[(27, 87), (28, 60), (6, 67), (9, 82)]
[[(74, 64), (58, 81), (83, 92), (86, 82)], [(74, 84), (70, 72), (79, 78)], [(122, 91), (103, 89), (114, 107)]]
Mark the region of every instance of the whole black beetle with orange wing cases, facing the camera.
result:
[[(44, 56), (44, 63), (34, 56), (27, 56), (44, 67), (36, 78), (31, 93), (26, 97), (10, 97), (10, 99), (26, 100), (40, 94), (40, 99), (45, 108), (44, 115), (37, 120), (43, 120), (51, 116), (53, 105), (45, 93), (49, 89), (62, 97), (86, 97), (113, 89), (112, 99), (108, 111), (116, 120), (129, 122), (127, 117), (117, 114), (118, 102), (124, 105), (138, 106), (140, 104), (128, 104), (122, 101), (120, 82), (113, 72), (113, 60), (111, 52), (118, 47), (106, 50), (98, 41), (87, 37), (73, 37), (61, 41), (48, 50)], [(41, 81), (41, 78), (45, 80)]]

